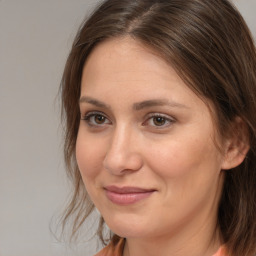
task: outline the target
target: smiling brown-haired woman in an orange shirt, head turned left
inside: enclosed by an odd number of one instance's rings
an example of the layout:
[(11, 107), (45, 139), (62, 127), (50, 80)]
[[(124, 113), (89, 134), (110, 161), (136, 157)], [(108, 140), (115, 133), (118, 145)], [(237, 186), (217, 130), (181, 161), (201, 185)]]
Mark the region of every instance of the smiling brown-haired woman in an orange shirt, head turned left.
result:
[(73, 234), (97, 255), (256, 255), (256, 55), (227, 0), (107, 0), (61, 91)]

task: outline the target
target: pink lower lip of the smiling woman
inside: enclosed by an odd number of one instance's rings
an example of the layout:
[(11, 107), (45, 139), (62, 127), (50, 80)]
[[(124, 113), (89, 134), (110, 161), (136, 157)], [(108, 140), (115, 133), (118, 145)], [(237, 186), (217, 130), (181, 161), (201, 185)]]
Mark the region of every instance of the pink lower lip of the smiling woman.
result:
[(154, 191), (119, 194), (116, 192), (106, 190), (107, 198), (112, 203), (119, 204), (119, 205), (129, 205), (129, 204), (137, 203), (143, 199), (150, 197), (153, 193)]

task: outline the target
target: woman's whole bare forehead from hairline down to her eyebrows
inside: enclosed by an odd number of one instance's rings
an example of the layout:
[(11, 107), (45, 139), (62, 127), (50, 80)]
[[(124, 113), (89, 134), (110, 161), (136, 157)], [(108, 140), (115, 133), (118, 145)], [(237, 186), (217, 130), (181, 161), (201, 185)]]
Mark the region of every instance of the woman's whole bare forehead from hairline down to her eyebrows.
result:
[(137, 101), (166, 96), (204, 105), (169, 63), (130, 37), (104, 41), (91, 52), (84, 65), (81, 90), (82, 95), (94, 96), (90, 93), (102, 99), (132, 94)]

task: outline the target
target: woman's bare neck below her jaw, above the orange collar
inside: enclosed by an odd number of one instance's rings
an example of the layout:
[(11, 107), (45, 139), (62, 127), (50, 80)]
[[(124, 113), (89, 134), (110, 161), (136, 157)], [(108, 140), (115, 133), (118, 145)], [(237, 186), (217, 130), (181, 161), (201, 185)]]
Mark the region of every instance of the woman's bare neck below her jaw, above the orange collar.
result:
[(123, 256), (212, 256), (221, 245), (215, 211), (162, 236), (126, 238)]

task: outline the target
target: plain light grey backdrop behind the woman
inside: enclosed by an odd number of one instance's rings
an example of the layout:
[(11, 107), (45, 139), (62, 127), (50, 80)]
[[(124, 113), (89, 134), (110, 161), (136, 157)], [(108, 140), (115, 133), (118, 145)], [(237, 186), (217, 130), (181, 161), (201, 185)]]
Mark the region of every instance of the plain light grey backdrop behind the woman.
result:
[[(70, 192), (56, 96), (76, 30), (97, 2), (0, 0), (0, 256), (97, 250), (93, 220), (73, 246), (49, 228)], [(256, 38), (256, 0), (234, 2)]]

